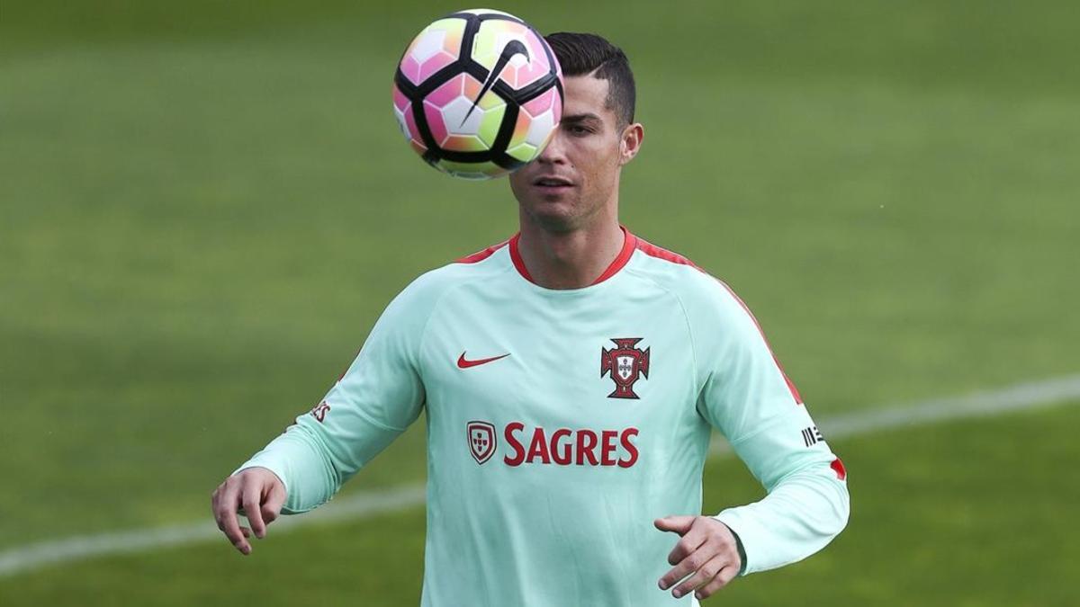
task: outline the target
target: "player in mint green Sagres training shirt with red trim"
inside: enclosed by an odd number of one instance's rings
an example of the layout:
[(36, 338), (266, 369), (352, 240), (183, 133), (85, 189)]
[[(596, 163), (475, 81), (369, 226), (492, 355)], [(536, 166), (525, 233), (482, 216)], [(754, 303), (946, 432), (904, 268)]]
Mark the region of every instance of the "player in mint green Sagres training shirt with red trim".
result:
[[(564, 114), (510, 177), (521, 231), (406, 287), (326, 397), (217, 488), (242, 553), (421, 410), (426, 606), (697, 603), (846, 525), (843, 464), (750, 311), (619, 224), (620, 172), (644, 135), (625, 55), (592, 35), (548, 41)], [(703, 516), (713, 429), (767, 496)]]

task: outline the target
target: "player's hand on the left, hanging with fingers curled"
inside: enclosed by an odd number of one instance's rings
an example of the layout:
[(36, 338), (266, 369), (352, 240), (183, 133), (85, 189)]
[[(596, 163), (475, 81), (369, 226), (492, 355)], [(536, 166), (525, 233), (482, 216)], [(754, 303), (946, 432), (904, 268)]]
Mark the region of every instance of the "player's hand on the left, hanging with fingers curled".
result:
[[(229, 476), (214, 489), (211, 500), (217, 528), (245, 555), (252, 553), (247, 538), (252, 532), (265, 538), (267, 525), (278, 518), (284, 503), (285, 485), (266, 468), (248, 468)], [(252, 528), (240, 526), (238, 511), (243, 511)]]

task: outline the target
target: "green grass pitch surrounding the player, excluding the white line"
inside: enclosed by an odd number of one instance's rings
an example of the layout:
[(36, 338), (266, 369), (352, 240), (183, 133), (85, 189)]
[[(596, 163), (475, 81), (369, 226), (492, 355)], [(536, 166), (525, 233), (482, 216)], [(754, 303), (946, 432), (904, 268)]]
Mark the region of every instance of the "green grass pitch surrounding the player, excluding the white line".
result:
[[(129, 5), (130, 4), (130, 5)], [(0, 4), (0, 552), (210, 520), (415, 275), (511, 234), (401, 140), (459, 4)], [(504, 2), (621, 44), (623, 221), (729, 282), (816, 416), (1080, 370), (1080, 42), (1045, 2)], [(837, 441), (835, 545), (711, 603), (1069, 605), (1074, 406)], [(345, 494), (423, 478), (422, 428)], [(706, 510), (757, 499), (737, 460)], [(423, 513), (0, 577), (0, 605), (416, 604)], [(316, 601), (318, 598), (318, 601)]]

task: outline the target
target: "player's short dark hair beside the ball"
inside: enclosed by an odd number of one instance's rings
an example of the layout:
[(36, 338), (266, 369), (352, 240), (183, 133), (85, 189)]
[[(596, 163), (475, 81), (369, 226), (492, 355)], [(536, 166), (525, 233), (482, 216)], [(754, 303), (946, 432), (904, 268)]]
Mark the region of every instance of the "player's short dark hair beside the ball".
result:
[[(621, 126), (634, 122), (634, 104), (637, 90), (634, 72), (622, 49), (595, 33), (558, 31), (544, 36), (563, 68), (563, 76), (585, 76), (608, 81), (608, 96), (604, 105), (615, 111)], [(595, 72), (595, 73), (594, 73)]]

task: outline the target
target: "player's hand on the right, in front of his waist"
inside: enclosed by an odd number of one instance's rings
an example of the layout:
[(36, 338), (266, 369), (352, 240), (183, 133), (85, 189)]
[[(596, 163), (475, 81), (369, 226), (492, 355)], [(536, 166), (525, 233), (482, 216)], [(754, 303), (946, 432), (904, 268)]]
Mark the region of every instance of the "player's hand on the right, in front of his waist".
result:
[(697, 590), (694, 596), (700, 601), (739, 575), (742, 567), (739, 547), (724, 523), (710, 516), (664, 516), (657, 518), (653, 525), (661, 531), (683, 536), (667, 555), (667, 563), (674, 567), (660, 578), (660, 590), (667, 590), (686, 578), (672, 590), (672, 595), (680, 598)]

